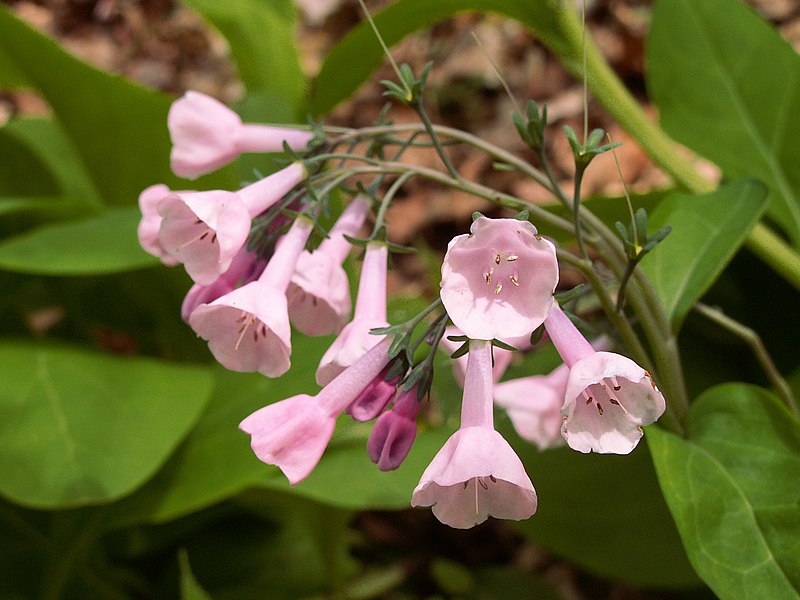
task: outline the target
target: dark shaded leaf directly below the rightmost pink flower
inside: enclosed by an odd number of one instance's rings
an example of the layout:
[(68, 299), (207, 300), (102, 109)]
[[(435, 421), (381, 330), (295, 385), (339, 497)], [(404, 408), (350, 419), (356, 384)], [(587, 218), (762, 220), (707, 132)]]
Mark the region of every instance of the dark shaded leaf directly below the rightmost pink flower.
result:
[(536, 514), (514, 528), (604, 577), (646, 587), (696, 586), (643, 446), (616, 456), (514, 444), (539, 494)]

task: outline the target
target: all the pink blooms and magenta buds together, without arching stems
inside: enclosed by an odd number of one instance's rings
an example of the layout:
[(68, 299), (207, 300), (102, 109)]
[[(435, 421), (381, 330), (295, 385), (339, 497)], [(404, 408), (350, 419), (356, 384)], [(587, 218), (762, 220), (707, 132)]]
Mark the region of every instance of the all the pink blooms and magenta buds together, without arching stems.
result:
[[(173, 170), (186, 177), (242, 152), (284, 144), (301, 150), (311, 138), (301, 130), (243, 124), (197, 93), (175, 102), (168, 124)], [(397, 468), (416, 437), (427, 391), (418, 379), (407, 379), (414, 367), (410, 356), (396, 348), (390, 355), (396, 340), (386, 314), (384, 241), (365, 242), (351, 318), (342, 264), (351, 236), (369, 214), (369, 198), (356, 196), (313, 251), (306, 245), (314, 207), (299, 211), (273, 251), (248, 244), (254, 219), (279, 207), (307, 177), (298, 161), (237, 192), (173, 192), (155, 185), (140, 196), (141, 244), (164, 264), (183, 264), (194, 280), (182, 316), (222, 365), (278, 377), (290, 366), (291, 325), (307, 335), (338, 333), (316, 373), (321, 391), (269, 404), (240, 424), (258, 458), (278, 466), (291, 485), (317, 465), (342, 413), (376, 420), (369, 456), (382, 470)], [(603, 351), (604, 342), (596, 350), (580, 334), (554, 300), (558, 279), (555, 247), (525, 220), (478, 216), (470, 233), (448, 246), (441, 303), (454, 326), (449, 332), (468, 344), (457, 369), (464, 387), (461, 424), (411, 497), (412, 505), (430, 506), (443, 523), (468, 528), (489, 516), (525, 519), (536, 511), (522, 462), (494, 428), (495, 404), (541, 449), (566, 442), (580, 452), (601, 453), (630, 452), (642, 426), (664, 411), (664, 398), (646, 371)], [(564, 365), (550, 375), (498, 383), (512, 352), (495, 347), (495, 340), (524, 349), (542, 325)], [(437, 342), (440, 337), (441, 331)]]

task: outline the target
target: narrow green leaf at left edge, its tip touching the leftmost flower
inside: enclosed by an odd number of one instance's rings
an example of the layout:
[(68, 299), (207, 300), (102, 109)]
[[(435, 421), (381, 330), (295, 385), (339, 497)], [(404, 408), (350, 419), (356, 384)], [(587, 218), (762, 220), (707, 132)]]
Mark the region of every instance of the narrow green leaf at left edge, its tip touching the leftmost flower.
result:
[(0, 243), (0, 269), (40, 275), (118, 273), (159, 264), (139, 245), (135, 208), (43, 225)]

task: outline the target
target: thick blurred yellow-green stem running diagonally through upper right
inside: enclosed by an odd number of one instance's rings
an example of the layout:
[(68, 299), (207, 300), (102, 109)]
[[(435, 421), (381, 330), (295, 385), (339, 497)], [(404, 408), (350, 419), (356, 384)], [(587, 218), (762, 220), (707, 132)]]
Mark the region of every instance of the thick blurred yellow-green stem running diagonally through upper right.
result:
[[(677, 144), (653, 123), (608, 65), (590, 36), (584, 40), (578, 15), (574, 10), (556, 11), (563, 45), (551, 45), (562, 64), (576, 77), (583, 77), (580, 57), (586, 52), (585, 77), (589, 88), (617, 122), (639, 143), (642, 149), (681, 187), (696, 193), (714, 190), (713, 183), (702, 177), (677, 151)], [(585, 41), (585, 44), (584, 44)], [(800, 255), (766, 225), (757, 224), (745, 241), (762, 261), (800, 290)]]

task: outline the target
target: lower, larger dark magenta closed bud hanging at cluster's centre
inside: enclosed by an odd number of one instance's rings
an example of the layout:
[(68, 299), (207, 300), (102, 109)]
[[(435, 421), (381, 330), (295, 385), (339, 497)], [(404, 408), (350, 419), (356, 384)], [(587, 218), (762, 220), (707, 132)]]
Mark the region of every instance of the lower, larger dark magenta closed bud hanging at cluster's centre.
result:
[(417, 389), (400, 392), (391, 410), (378, 420), (367, 440), (369, 457), (381, 471), (393, 471), (408, 456), (417, 437)]

